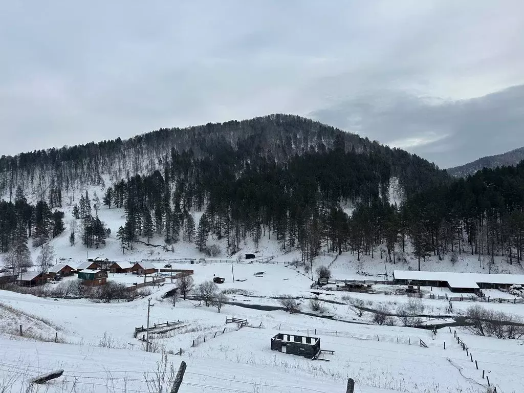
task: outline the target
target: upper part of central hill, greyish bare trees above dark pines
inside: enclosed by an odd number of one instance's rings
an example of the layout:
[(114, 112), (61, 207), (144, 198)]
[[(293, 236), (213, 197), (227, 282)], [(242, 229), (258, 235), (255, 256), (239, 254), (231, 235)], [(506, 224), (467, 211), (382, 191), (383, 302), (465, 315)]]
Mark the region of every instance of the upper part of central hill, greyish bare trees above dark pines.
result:
[(406, 151), (390, 149), (310, 119), (276, 114), (241, 122), (161, 128), (127, 140), (118, 138), (3, 156), (0, 158), (0, 197), (12, 200), (20, 185), (32, 195), (32, 200), (43, 200), (53, 190), (83, 190), (89, 185), (103, 185), (104, 181), (116, 183), (135, 174), (165, 171), (173, 152), (185, 152), (192, 160), (201, 160), (214, 159), (226, 149), (233, 151), (234, 156), (226, 159), (237, 160), (241, 167), (256, 166), (260, 159), (282, 166), (306, 152), (321, 154), (332, 150), (336, 140), (345, 151), (375, 157), (375, 167), (370, 169), (380, 171), (383, 181), (398, 178), (408, 193), (446, 177), (432, 163)]

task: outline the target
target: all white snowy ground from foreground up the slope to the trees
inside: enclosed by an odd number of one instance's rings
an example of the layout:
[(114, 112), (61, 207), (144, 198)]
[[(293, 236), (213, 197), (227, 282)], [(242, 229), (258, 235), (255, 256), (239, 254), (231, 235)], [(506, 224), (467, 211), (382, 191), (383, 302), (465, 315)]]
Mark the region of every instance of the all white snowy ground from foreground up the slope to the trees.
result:
[[(93, 196), (94, 189), (90, 189)], [(104, 190), (96, 189), (102, 199)], [(111, 260), (137, 261), (147, 259), (201, 258), (193, 244), (179, 242), (173, 250), (152, 248), (137, 244), (136, 248), (122, 254), (116, 232), (124, 224), (122, 209), (105, 206), (99, 216), (111, 229), (107, 244), (100, 249), (86, 250), (80, 243), (69, 245), (69, 223), (72, 220), (72, 205), (64, 198), (66, 231), (51, 240), (57, 261), (65, 258), (76, 266), (90, 258), (101, 257)], [(72, 204), (77, 202), (77, 194)], [(390, 190), (390, 198), (398, 201), (398, 192)], [(351, 209), (351, 206), (347, 206)], [(195, 222), (200, 218), (194, 212)], [(153, 238), (150, 243), (163, 244), (162, 239)], [(347, 378), (356, 381), (357, 393), (485, 393), (487, 379), (499, 392), (522, 391), (524, 376), (522, 340), (497, 340), (471, 335), (460, 328), (457, 334), (468, 345), (479, 366), (477, 370), (471, 357), (456, 344), (450, 328), (442, 328), (434, 336), (431, 331), (401, 326), (378, 326), (371, 324), (373, 314), (359, 313), (352, 306), (356, 302), (365, 308), (375, 309), (386, 305), (395, 311), (409, 301), (404, 296), (385, 294), (347, 293), (311, 290), (311, 272), (304, 267), (292, 267), (289, 261), (299, 256), (298, 252), (284, 253), (271, 235), (261, 239), (258, 249), (247, 239), (241, 250), (233, 256), (225, 254), (224, 240), (210, 239), (217, 244), (222, 255), (230, 263), (206, 263), (190, 265), (176, 263), (174, 269), (193, 269), (194, 283), (211, 280), (213, 276), (225, 278), (220, 285), (231, 302), (224, 305), (220, 313), (216, 308), (196, 307), (195, 300), (179, 300), (173, 307), (169, 299), (161, 299), (163, 293), (172, 289), (169, 276), (165, 285), (149, 287), (153, 307), (150, 309), (150, 324), (180, 321), (175, 329), (157, 330), (150, 337), (154, 349), (164, 348), (168, 360), (175, 368), (180, 361), (188, 364), (181, 392), (335, 392), (345, 391)], [(39, 249), (33, 248), (36, 259)], [(324, 252), (324, 250), (323, 250)], [(274, 256), (270, 264), (236, 263), (237, 255), (255, 253), (257, 257)], [(313, 269), (320, 265), (329, 266), (337, 279), (383, 280), (391, 278), (394, 269), (418, 269), (418, 261), (409, 253), (407, 263), (392, 264), (386, 256), (380, 257), (376, 249), (374, 258), (343, 253), (339, 256), (321, 255), (315, 258)], [(71, 258), (71, 259), (70, 259)], [(164, 263), (155, 263), (163, 267)], [(486, 264), (487, 265), (487, 264)], [(449, 256), (439, 261), (432, 256), (422, 261), (422, 270), (487, 272), (477, 256), (467, 253), (451, 264)], [(233, 269), (233, 270), (232, 270)], [(508, 265), (496, 258), (499, 273), (522, 274), (518, 264)], [(255, 273), (264, 274), (255, 276)], [(233, 274), (235, 280), (233, 281)], [(313, 276), (316, 276), (313, 274)], [(77, 280), (76, 276), (64, 280)], [(126, 283), (143, 282), (143, 278), (132, 274), (109, 274), (108, 280)], [(48, 284), (56, 287), (57, 283)], [(393, 287), (376, 285), (378, 291), (395, 290)], [(421, 288), (424, 293), (444, 296), (450, 294), (445, 288)], [(289, 314), (279, 309), (279, 297), (290, 295), (299, 298), (303, 314)], [(486, 291), (490, 297), (513, 298), (506, 292)], [(348, 298), (349, 296), (350, 298)], [(323, 300), (325, 312), (317, 315), (309, 306), (308, 299)], [(460, 315), (470, 302), (455, 302), (448, 313), (448, 302), (423, 299), (424, 314)], [(524, 315), (522, 304), (481, 304), (483, 307)], [(247, 319), (252, 326), (238, 329), (236, 324), (225, 325), (226, 315)], [(447, 319), (427, 318), (424, 323), (442, 323)], [(64, 376), (41, 387), (49, 391), (70, 392), (148, 392), (144, 373), (153, 373), (161, 355), (144, 352), (144, 343), (134, 337), (134, 329), (147, 323), (147, 299), (133, 302), (93, 303), (85, 299), (37, 298), (15, 292), (0, 291), (0, 392), (20, 391), (27, 379), (52, 369), (63, 368)], [(19, 335), (22, 325), (23, 337)], [(224, 331), (224, 328), (227, 328)], [(335, 351), (333, 355), (322, 354), (329, 360), (313, 361), (303, 357), (270, 351), (270, 339), (278, 332), (316, 335), (321, 347)], [(54, 339), (58, 343), (54, 343)], [(205, 337), (205, 342), (203, 342)], [(193, 341), (196, 345), (193, 347)], [(428, 347), (421, 346), (424, 342)], [(446, 349), (444, 350), (444, 342)], [(182, 349), (182, 356), (175, 355)], [(3, 381), (9, 376), (16, 379), (10, 390), (3, 390)]]

